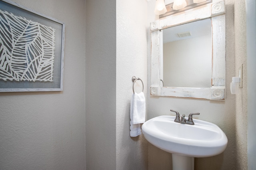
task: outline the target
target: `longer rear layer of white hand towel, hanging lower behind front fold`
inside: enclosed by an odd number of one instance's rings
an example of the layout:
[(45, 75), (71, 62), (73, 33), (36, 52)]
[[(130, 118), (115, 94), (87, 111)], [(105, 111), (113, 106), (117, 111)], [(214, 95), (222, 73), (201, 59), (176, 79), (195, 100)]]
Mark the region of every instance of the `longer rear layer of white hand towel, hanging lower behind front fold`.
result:
[(141, 134), (140, 124), (133, 124), (133, 104), (134, 104), (134, 94), (132, 94), (131, 98), (131, 106), (130, 106), (130, 137), (136, 137)]

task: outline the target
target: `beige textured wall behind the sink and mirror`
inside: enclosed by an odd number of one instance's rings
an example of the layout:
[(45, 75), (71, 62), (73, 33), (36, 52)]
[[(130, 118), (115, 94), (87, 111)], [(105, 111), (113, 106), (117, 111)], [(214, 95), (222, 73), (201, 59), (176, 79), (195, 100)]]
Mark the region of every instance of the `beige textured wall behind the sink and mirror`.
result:
[[(154, 12), (155, 1), (148, 2), (148, 10)], [(149, 12), (148, 11), (148, 12)], [(148, 22), (156, 20), (149, 15)], [(148, 72), (150, 72), (150, 31), (148, 31)], [(196, 170), (227, 170), (236, 168), (236, 135), (235, 135), (235, 96), (230, 94), (229, 84), (234, 72), (234, 2), (226, 0), (226, 101), (210, 101), (203, 99), (156, 97), (148, 94), (148, 119), (158, 115), (174, 115), (170, 109), (188, 115), (200, 112), (196, 118), (218, 125), (228, 137), (226, 150), (217, 156), (195, 158)], [(148, 75), (150, 83), (150, 74)], [(172, 129), (170, 129), (172, 130)], [(171, 154), (149, 144), (148, 169), (170, 170)]]

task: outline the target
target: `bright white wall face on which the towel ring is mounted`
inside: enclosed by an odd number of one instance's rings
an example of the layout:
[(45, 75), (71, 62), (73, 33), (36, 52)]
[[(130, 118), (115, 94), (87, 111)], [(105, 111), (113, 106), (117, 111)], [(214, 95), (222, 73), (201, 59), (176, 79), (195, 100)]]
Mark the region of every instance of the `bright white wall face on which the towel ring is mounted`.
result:
[[(116, 1), (116, 169), (147, 170), (148, 145), (143, 135), (130, 137), (132, 76), (142, 79), (147, 96), (147, 2)], [(135, 91), (141, 92), (138, 80)]]

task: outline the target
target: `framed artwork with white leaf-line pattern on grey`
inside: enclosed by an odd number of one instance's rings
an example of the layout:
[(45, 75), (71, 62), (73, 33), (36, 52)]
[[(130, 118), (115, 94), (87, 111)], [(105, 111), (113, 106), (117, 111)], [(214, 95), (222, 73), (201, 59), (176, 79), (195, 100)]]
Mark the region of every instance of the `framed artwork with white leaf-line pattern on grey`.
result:
[(0, 0), (0, 92), (62, 91), (65, 24)]

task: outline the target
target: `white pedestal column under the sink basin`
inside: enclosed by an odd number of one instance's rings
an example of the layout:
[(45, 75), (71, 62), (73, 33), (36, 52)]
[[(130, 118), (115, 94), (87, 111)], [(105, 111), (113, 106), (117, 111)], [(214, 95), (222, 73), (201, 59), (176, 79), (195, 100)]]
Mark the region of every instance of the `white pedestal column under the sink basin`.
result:
[(172, 170), (194, 170), (194, 157), (172, 154)]

